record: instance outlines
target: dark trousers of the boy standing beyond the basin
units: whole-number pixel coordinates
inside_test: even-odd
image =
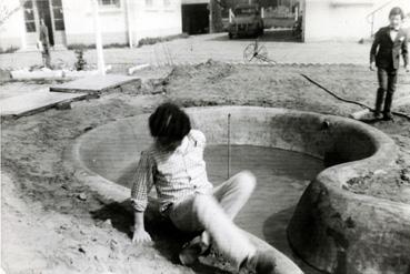
[[[383,114],[390,114],[391,104],[393,101],[393,93],[396,91],[397,84],[397,70],[378,68],[378,80],[379,80],[379,89],[376,98],[376,113],[381,112],[381,108],[384,101]]]

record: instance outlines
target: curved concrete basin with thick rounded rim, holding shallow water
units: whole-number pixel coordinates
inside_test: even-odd
[[[232,145],[299,152],[328,166],[301,195],[287,230],[293,251],[308,264],[349,274],[404,273],[409,267],[410,205],[346,187],[350,180],[371,180],[393,166],[397,148],[386,134],[350,119],[284,109],[214,106],[187,112],[208,145],[228,142],[231,114]],[[148,114],[127,118],[80,136],[69,153],[77,177],[109,199],[127,200],[129,189],[114,182],[129,173],[151,142],[147,121]],[[274,253],[278,273],[301,273],[273,246],[248,235]]]

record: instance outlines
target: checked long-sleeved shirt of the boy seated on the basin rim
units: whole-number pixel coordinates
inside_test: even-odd
[[[141,152],[131,190],[131,202],[136,211],[143,212],[148,193],[156,186],[160,212],[174,202],[194,193],[210,193],[203,149],[202,132],[191,130],[174,151],[161,151],[154,144]]]

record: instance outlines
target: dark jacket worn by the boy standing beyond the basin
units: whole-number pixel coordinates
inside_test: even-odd
[[[400,51],[403,55],[404,65],[409,63],[407,34],[400,29],[394,41],[390,38],[390,28],[381,28],[374,35],[370,50],[370,62],[376,61],[378,68],[397,70],[400,63]]]

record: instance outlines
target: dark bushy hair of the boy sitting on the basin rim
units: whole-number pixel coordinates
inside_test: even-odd
[[[184,111],[173,103],[163,103],[149,118],[151,135],[167,145],[181,141],[191,130],[191,121]]]

